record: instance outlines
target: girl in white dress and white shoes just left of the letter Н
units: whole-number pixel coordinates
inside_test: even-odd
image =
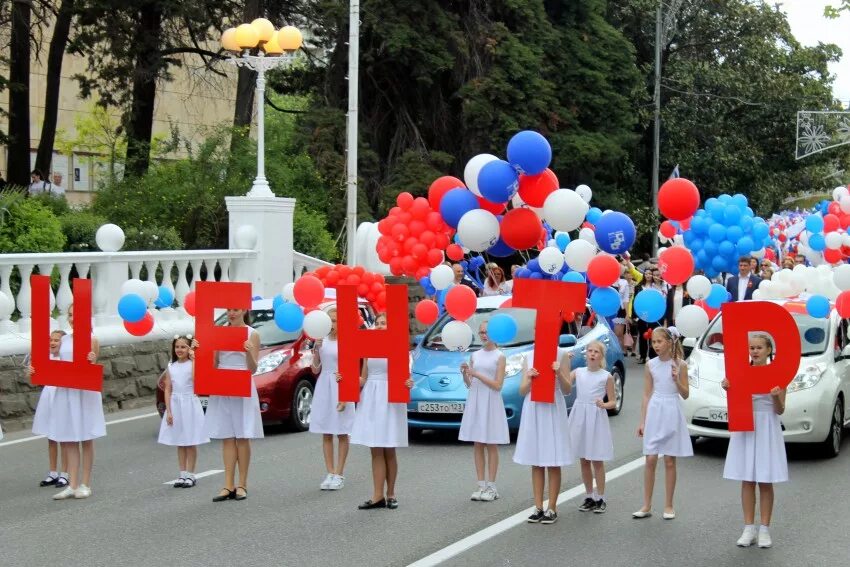
[[[336,309],[328,311],[331,332],[313,344],[312,369],[319,374],[310,409],[310,432],[322,434],[322,452],[327,476],[319,488],[339,490],[345,485],[343,471],[348,458],[349,435],[354,427],[354,404],[339,401],[339,347],[336,334]],[[321,371],[321,372],[320,372]],[[334,435],[339,439],[339,454],[334,463]]]

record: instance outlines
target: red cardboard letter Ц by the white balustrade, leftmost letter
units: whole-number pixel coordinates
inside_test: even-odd
[[[50,360],[50,276],[30,276],[33,385],[103,390],[103,366],[91,352],[91,280],[74,279],[74,360]]]

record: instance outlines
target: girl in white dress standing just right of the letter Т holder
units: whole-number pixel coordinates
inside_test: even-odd
[[[572,361],[572,353],[570,353]],[[582,512],[603,514],[605,502],[605,461],[614,458],[614,441],[608,424],[608,410],[617,407],[614,377],[605,368],[605,345],[593,341],[585,351],[587,366],[570,373],[576,399],[570,412],[570,441],[581,463],[585,499]],[[608,396],[608,401],[604,401]],[[593,478],[596,477],[596,490]]]

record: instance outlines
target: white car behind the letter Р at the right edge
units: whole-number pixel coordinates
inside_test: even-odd
[[[850,340],[848,320],[832,310],[828,319],[806,313],[805,303],[777,300],[792,315],[800,331],[802,358],[794,380],[788,385],[785,413],[780,416],[786,443],[816,443],[824,455],[834,457],[841,448],[848,422],[850,392]],[[718,315],[699,339],[685,339],[692,346],[688,357],[690,396],[684,401],[688,432],[697,437],[729,438],[725,376],[723,318]]]

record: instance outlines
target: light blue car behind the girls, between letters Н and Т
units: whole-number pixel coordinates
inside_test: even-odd
[[[473,329],[474,340],[467,352],[452,352],[443,346],[440,332],[451,321],[443,315],[424,335],[417,337],[418,344],[413,351],[413,389],[410,403],[407,405],[408,426],[413,431],[423,429],[460,429],[460,420],[466,405],[467,388],[460,374],[460,365],[469,360],[471,351],[481,348],[478,339],[478,327],[482,321],[496,313],[507,313],[517,322],[517,335],[509,344],[500,345],[507,357],[505,381],[502,386],[502,398],[508,426],[519,429],[523,398],[519,394],[522,359],[529,360],[534,354],[535,312],[531,309],[515,307],[500,308],[507,297],[482,297],[478,299],[476,313],[467,321]],[[588,306],[582,320],[564,323],[561,331],[560,346],[574,354],[573,368],[584,366],[584,352],[591,341],[599,340],[607,347],[606,361],[614,376],[614,389],[617,392],[617,406],[609,410],[617,415],[623,406],[623,384],[626,379],[623,352],[616,335],[608,327],[603,317],[597,317]],[[572,408],[575,393],[565,396],[567,408]]]

